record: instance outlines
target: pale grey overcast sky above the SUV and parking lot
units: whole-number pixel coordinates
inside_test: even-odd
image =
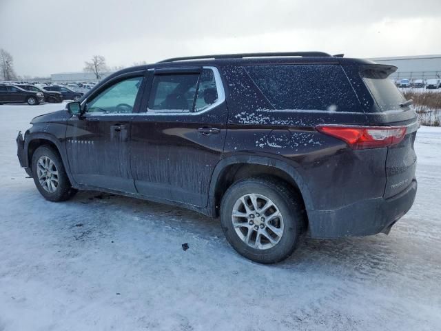
[[[0,0],[0,48],[20,75],[228,52],[441,54],[441,0]]]

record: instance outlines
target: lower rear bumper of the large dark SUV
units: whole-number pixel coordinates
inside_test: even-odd
[[[359,201],[338,210],[308,210],[311,238],[338,238],[389,233],[415,200],[417,181],[388,199]]]

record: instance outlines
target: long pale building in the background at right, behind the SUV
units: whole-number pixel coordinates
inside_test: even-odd
[[[391,74],[393,79],[441,79],[440,54],[413,57],[378,57],[369,60],[398,67],[398,70]]]

